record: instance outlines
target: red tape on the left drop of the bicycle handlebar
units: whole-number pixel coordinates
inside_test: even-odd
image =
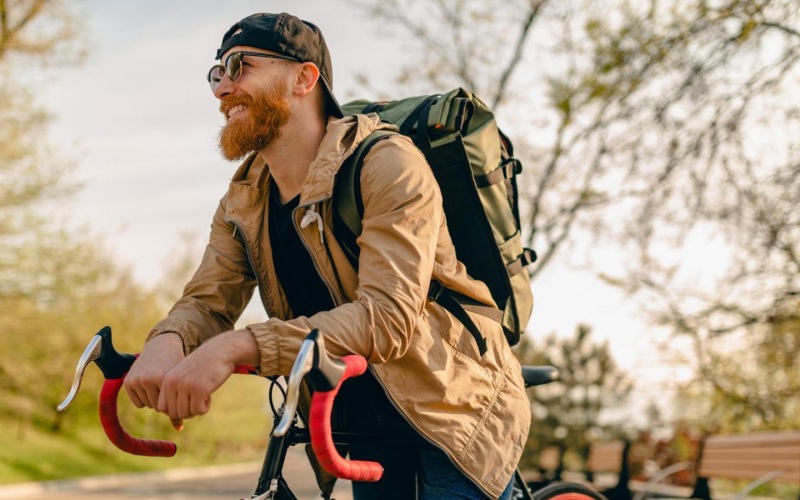
[[[106,436],[114,446],[131,455],[174,456],[178,449],[175,443],[155,439],[137,439],[122,428],[117,415],[117,396],[124,381],[124,375],[120,378],[106,379],[100,391],[100,423],[103,424]]]

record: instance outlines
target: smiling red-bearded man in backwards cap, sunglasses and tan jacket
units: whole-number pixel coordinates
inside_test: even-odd
[[[356,499],[509,498],[530,424],[521,370],[499,323],[473,315],[487,341],[481,356],[428,298],[435,279],[493,304],[456,259],[424,156],[392,134],[364,159],[356,270],[333,232],[336,173],[390,126],[375,114],[343,116],[325,40],[294,16],[241,20],[217,59],[208,80],[226,120],[220,150],[244,161],[183,297],[128,374],[131,400],[180,425],[208,411],[237,364],[288,375],[316,328],[331,354],[370,364],[340,393],[349,425],[408,436],[402,450],[351,446],[352,458],[385,469],[378,483],[354,483]],[[234,330],[256,287],[269,320]]]

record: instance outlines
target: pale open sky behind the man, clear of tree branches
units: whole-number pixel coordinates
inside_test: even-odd
[[[317,24],[330,47],[340,102],[357,97],[356,71],[368,70],[378,83],[390,84],[404,53],[380,25],[342,0],[82,5],[87,61],[60,70],[42,94],[54,115],[52,142],[75,159],[83,184],[65,209],[76,227],[103,237],[120,263],[155,287],[186,235],[195,236],[202,251],[237,166],[217,152],[223,120],[206,81],[222,34],[233,23],[267,10]],[[651,399],[663,403],[663,381],[675,367],[662,361],[654,342],[663,332],[637,318],[634,304],[565,262],[554,262],[533,286],[529,335],[571,335],[580,323],[592,325],[595,337],[607,340],[618,363],[637,379],[636,406]],[[249,311],[259,314],[257,305]]]

